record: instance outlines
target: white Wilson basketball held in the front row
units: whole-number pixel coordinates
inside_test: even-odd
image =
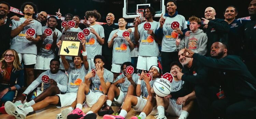
[[[171,83],[163,78],[157,79],[153,84],[156,95],[166,97],[171,93]]]

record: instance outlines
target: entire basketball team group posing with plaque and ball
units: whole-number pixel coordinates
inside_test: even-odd
[[[251,20],[236,19],[235,6],[225,19],[207,7],[205,18],[189,17],[189,30],[177,2],[165,6],[159,21],[148,6],[126,29],[112,13],[99,25],[96,10],[84,20],[62,21],[60,10],[35,17],[32,2],[21,5],[24,17],[9,18],[0,2],[0,113],[25,119],[53,104],[69,106],[56,119],[125,119],[131,109],[139,112],[131,119],[256,119],[256,0],[244,6]],[[80,46],[62,37],[72,33]]]

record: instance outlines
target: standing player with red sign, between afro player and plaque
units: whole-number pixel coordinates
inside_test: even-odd
[[[55,48],[57,47],[57,42],[61,37],[61,32],[56,29],[57,18],[55,16],[50,16],[47,22],[48,26],[42,27],[42,32],[45,29],[50,28],[52,34],[43,33],[41,40],[38,43],[38,55],[37,63],[35,64],[35,76],[38,77],[42,72],[49,69],[49,61],[55,57]]]

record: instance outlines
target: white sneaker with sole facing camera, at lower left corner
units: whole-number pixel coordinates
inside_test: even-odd
[[[16,119],[25,119],[27,114],[24,111],[24,108],[17,107],[15,104],[13,104],[11,101],[7,101],[4,104],[4,109],[7,114],[15,116]]]

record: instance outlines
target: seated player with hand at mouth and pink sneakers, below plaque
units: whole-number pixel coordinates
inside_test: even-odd
[[[101,55],[94,57],[96,69],[89,71],[85,76],[85,83],[81,83],[76,96],[76,108],[67,116],[68,119],[96,119],[96,113],[100,110],[106,102],[106,95],[108,94],[109,87],[113,82],[113,73],[105,68],[103,65],[105,59]],[[90,89],[90,84],[92,88]],[[86,114],[83,113],[83,102],[91,107],[90,111]]]

